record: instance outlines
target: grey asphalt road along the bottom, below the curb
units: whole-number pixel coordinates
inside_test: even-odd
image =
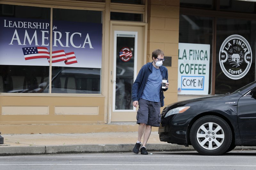
[[[178,169],[178,170],[254,170],[256,151],[232,151],[221,156],[202,156],[197,152],[152,152],[140,155],[122,153],[84,153],[56,155],[1,156],[1,170],[23,169]]]

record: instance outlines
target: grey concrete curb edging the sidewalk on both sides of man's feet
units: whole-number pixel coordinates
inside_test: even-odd
[[[132,152],[134,144],[74,144],[47,146],[0,146],[0,156],[60,153]],[[147,144],[147,151],[195,151],[192,146],[176,144]]]

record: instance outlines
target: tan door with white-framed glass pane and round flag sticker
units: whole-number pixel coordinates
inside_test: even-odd
[[[111,34],[110,122],[136,122],[132,106],[132,85],[138,68],[145,63],[145,26],[114,25]]]

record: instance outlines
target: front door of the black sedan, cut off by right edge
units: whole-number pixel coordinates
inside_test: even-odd
[[[241,139],[256,139],[256,98],[250,92],[238,100],[237,120]]]

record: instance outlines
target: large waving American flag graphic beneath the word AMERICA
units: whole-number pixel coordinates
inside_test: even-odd
[[[47,58],[50,63],[50,53],[46,47],[25,47],[22,48],[25,60],[35,58]],[[52,51],[52,63],[64,61],[65,64],[77,63],[74,52],[65,53],[64,50]]]

